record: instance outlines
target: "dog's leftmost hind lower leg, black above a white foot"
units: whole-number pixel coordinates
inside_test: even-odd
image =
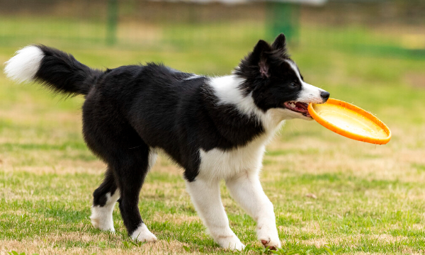
[[[113,227],[113,208],[120,198],[113,172],[108,169],[101,186],[93,193],[93,206],[91,207],[91,224],[101,230],[115,232]]]

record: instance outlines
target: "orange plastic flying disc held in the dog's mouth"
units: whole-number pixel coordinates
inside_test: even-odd
[[[326,103],[310,103],[308,112],[324,128],[353,140],[385,145],[391,139],[387,125],[351,103],[329,98]]]

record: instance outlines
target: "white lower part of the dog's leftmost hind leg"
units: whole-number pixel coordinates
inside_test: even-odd
[[[115,203],[120,198],[120,191],[117,189],[113,193],[113,196],[111,196],[111,193],[106,193],[106,198],[105,205],[96,205],[91,207],[91,224],[98,229],[115,232],[112,212]]]

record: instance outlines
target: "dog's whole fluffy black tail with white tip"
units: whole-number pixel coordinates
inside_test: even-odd
[[[72,55],[44,45],[30,45],[5,63],[6,76],[15,81],[40,81],[67,94],[89,94],[104,72],[81,64]]]

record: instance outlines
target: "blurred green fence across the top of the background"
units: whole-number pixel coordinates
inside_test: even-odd
[[[226,5],[166,1],[0,0],[0,44],[191,50],[285,33],[300,47],[425,57],[424,1]]]

